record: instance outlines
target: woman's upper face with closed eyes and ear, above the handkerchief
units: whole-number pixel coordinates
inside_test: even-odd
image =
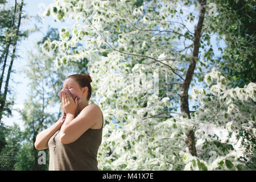
[[[67,78],[63,83],[63,89],[69,89],[70,92],[80,98],[85,96],[86,88],[87,87],[85,86],[84,88],[80,89],[79,84],[77,84],[77,82],[72,78]]]

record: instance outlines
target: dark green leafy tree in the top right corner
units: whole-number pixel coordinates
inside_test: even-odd
[[[230,13],[233,14],[232,18],[236,18],[237,22],[230,26],[228,30],[225,30],[232,32],[233,36],[228,37],[230,32],[226,35],[225,42],[227,43],[227,47],[222,50],[223,55],[221,56],[225,61],[221,61],[220,66],[234,78],[234,87],[239,86],[243,88],[243,86],[250,82],[256,82],[256,65],[254,61],[256,54],[256,35],[254,30],[256,20],[253,18],[256,16],[256,2],[229,0],[218,1],[217,3],[229,9]],[[234,36],[236,39],[233,38]],[[238,68],[229,66],[230,64],[235,65],[236,63],[240,65]]]

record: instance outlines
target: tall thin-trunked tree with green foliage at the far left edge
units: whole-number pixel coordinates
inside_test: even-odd
[[[5,4],[6,2],[1,2]],[[5,7],[5,6],[3,6]],[[20,31],[20,23],[22,19],[26,19],[26,16],[22,16],[23,13],[23,0],[18,3],[15,1],[14,5],[14,10],[1,10],[1,13],[3,12],[3,15],[12,13],[11,16],[8,14],[7,16],[2,16],[1,15],[1,20],[3,20],[3,23],[1,23],[1,45],[3,45],[3,49],[1,50],[1,59],[0,63],[2,65],[2,73],[1,73],[1,78],[0,78],[0,90],[2,89],[3,85],[3,77],[5,75],[5,67],[7,64],[7,59],[10,57],[10,65],[8,68],[7,76],[6,76],[6,81],[5,81],[5,86],[4,86],[4,91],[0,95],[0,122],[2,119],[2,115],[5,114],[4,111],[7,111],[7,115],[11,114],[10,106],[14,104],[13,101],[7,101],[7,93],[10,91],[9,90],[9,80],[11,77],[11,72],[13,72],[13,63],[14,59],[16,57],[16,46],[18,42],[20,41],[21,38],[28,36],[28,30],[26,31]],[[11,18],[11,21],[10,21]],[[11,51],[11,48],[12,51]]]

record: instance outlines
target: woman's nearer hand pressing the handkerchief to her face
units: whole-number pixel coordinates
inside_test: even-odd
[[[71,96],[69,96],[67,93],[63,92],[63,96],[62,96],[62,101],[63,101],[63,108],[65,110],[66,114],[76,114],[77,111],[77,98],[74,101],[73,98]]]

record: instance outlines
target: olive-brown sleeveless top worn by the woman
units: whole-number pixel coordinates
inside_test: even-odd
[[[102,140],[103,122],[102,114],[101,129],[88,129],[69,144],[60,142],[60,130],[57,130],[48,141],[49,171],[98,171],[97,153]]]

